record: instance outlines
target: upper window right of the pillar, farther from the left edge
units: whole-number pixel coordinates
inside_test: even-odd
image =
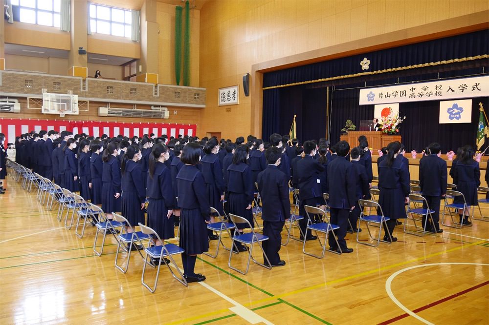
[[[90,30],[92,33],[131,37],[131,10],[90,3]]]

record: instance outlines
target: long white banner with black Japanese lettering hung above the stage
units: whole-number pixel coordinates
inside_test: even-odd
[[[443,101],[489,96],[489,76],[360,89],[360,105]]]

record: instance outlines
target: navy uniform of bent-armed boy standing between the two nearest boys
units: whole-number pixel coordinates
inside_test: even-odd
[[[281,163],[282,164],[282,163]],[[280,166],[280,165],[279,165]],[[296,173],[299,188],[299,215],[304,219],[299,220],[302,233],[306,233],[308,218],[304,206],[316,206],[324,201],[322,200],[321,191],[321,173],[324,167],[310,155],[306,155],[302,160],[297,162]],[[287,174],[286,174],[287,177]]]

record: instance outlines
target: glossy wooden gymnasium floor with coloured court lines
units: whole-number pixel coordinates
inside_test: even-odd
[[[244,276],[228,268],[227,252],[202,255],[196,271],[205,282],[186,288],[162,268],[152,294],[139,256],[122,274],[112,238],[94,256],[94,228],[79,239],[34,191],[9,181],[0,196],[2,324],[489,324],[486,222],[422,238],[397,228],[399,242],[378,248],[349,234],[354,253],[322,260],[291,241],[281,250],[285,267],[252,264]]]

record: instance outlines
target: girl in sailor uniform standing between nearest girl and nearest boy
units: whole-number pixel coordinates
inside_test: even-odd
[[[253,183],[251,168],[246,164],[247,158],[248,147],[241,144],[234,152],[233,163],[226,170],[229,213],[243,217],[254,227],[251,203],[253,202],[255,184]],[[238,231],[242,233],[247,224],[238,223],[237,226]],[[243,244],[236,243],[236,245],[239,251],[246,250]],[[233,246],[233,250],[236,250],[236,247]]]

